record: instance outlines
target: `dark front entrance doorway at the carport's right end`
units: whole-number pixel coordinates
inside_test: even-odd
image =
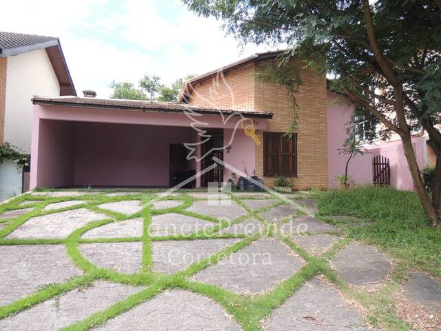
[[[223,147],[223,130],[222,129],[211,129],[207,131],[207,134],[211,135],[211,139],[203,144],[202,152],[206,157],[202,160],[202,168],[206,169],[213,163],[213,157],[217,157],[218,159],[223,161],[223,150],[212,150],[213,148],[221,148]],[[210,170],[205,173],[202,177],[202,186],[207,187],[208,183],[222,183],[223,182],[223,167],[221,165],[217,165],[216,168]]]

